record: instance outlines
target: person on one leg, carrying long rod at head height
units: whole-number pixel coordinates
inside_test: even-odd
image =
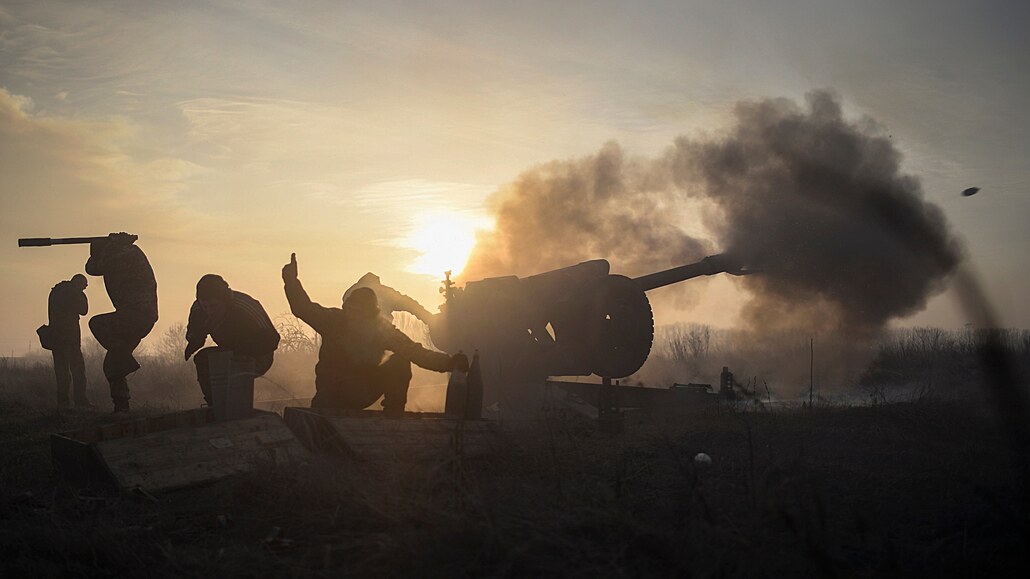
[[[90,330],[106,350],[104,376],[115,412],[129,411],[129,374],[139,370],[132,352],[158,321],[158,281],[135,237],[112,233],[90,243],[85,273],[104,277],[114,311],[95,315]]]

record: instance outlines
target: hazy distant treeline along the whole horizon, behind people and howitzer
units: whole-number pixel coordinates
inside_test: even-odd
[[[293,315],[281,314],[274,321],[282,341],[272,369],[254,383],[255,399],[311,397],[319,338]],[[427,340],[419,322],[397,321],[413,338]],[[184,325],[179,322],[147,340],[138,355],[142,368],[130,377],[135,400],[172,408],[200,406],[203,398],[194,365],[182,357],[184,335]],[[810,386],[817,397],[858,397],[867,402],[962,398],[983,391],[988,373],[982,353],[992,340],[1011,362],[1017,379],[1030,383],[1030,330],[908,328],[856,340],[829,332],[756,334],[697,323],[658,327],[648,362],[622,382],[654,387],[675,382],[718,386],[725,366],[744,389],[759,399],[806,399]],[[0,399],[53,403],[56,386],[47,353],[38,350],[0,359]],[[83,332],[82,353],[91,396],[103,400],[103,350],[88,332]],[[416,372],[412,402],[419,404],[417,397],[424,396],[426,408],[437,404],[437,382],[439,376]]]

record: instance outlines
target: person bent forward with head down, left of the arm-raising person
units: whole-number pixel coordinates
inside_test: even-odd
[[[211,336],[215,346],[204,347]],[[186,325],[185,359],[194,352],[197,381],[204,400],[211,405],[211,369],[208,357],[215,352],[231,351],[233,357],[251,357],[254,375],[262,376],[272,367],[272,357],[279,347],[279,333],[269,319],[261,302],[229,287],[220,275],[209,273],[197,282],[197,301],[190,308]],[[200,351],[197,351],[200,350]]]

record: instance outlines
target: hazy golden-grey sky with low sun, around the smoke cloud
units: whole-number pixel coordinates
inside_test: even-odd
[[[290,251],[317,301],[375,271],[435,310],[486,199],[527,168],[609,140],[655,155],[741,99],[814,89],[887,128],[1002,321],[1030,327],[1026,6],[0,0],[0,352],[28,348],[88,257],[19,237],[138,234],[156,335],[208,272],[287,311]],[[732,322],[720,283],[694,319]],[[948,294],[901,320],[963,321]]]

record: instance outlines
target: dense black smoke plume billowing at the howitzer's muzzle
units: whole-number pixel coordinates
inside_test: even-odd
[[[718,207],[719,244],[764,270],[744,280],[752,326],[876,330],[922,309],[961,249],[889,137],[830,93],[806,100],[742,103],[728,136],[679,139],[667,160]]]

